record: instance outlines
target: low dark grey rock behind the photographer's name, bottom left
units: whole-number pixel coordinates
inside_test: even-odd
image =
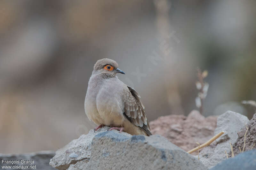
[[[36,169],[41,170],[51,170],[54,169],[52,166],[49,165],[50,159],[55,155],[55,152],[53,151],[41,151],[41,152],[33,152],[33,153],[24,153],[24,154],[0,154],[0,160],[1,160],[1,166],[34,166]],[[8,164],[8,163],[2,163],[2,160],[18,160],[19,163],[14,164]],[[34,163],[31,164],[24,164],[21,163],[21,159],[23,160],[33,160]],[[7,169],[7,168],[6,168]],[[11,168],[10,168],[11,169]],[[14,168],[13,168],[14,169]]]

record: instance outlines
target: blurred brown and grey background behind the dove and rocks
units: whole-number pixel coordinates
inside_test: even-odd
[[[256,1],[0,1],[0,152],[57,150],[95,127],[84,113],[94,63],[116,60],[150,121],[197,109],[247,115],[256,100]]]

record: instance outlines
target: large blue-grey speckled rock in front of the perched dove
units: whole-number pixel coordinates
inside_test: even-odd
[[[84,163],[83,163],[84,164]],[[207,168],[192,155],[159,135],[127,137],[112,131],[92,140],[91,159],[83,170],[95,169],[197,169]],[[76,166],[78,167],[78,166]],[[71,167],[69,170],[74,169]]]

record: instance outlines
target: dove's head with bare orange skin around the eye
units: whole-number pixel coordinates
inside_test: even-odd
[[[125,74],[124,71],[118,68],[116,61],[103,58],[98,60],[93,67],[92,74],[102,74],[103,78],[115,77],[117,73]]]

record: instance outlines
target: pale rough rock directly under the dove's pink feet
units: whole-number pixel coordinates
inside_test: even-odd
[[[107,131],[109,127],[100,128],[94,133],[90,130],[87,135],[82,135],[78,139],[72,140],[69,144],[56,151],[56,155],[51,159],[50,165],[57,169],[68,169],[71,164],[76,164],[79,161],[89,162],[91,156],[92,138],[100,132]],[[112,130],[114,133],[119,133],[117,130]],[[132,135],[122,132],[124,136],[131,137]]]

